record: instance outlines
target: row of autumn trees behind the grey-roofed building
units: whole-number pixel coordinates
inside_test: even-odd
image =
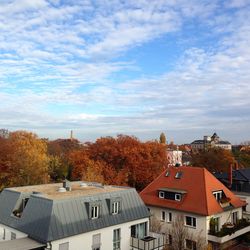
[[[0,130],[0,189],[69,180],[128,185],[141,190],[167,165],[166,145],[118,135],[81,144]]]

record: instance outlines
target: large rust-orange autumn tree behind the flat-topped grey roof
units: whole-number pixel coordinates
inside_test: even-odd
[[[167,162],[165,145],[140,142],[137,138],[118,135],[87,143],[71,154],[72,177],[86,175],[86,169],[100,169],[106,184],[129,185],[141,190],[164,169]],[[102,166],[102,167],[100,167]]]

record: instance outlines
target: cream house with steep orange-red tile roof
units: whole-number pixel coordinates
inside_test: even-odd
[[[205,168],[169,167],[140,196],[152,217],[161,222],[161,232],[169,235],[169,243],[178,216],[183,218],[188,235],[199,235],[212,249],[228,247],[232,240],[235,242],[250,230],[249,223],[243,219],[246,202]],[[196,249],[193,238],[185,242],[187,249]]]

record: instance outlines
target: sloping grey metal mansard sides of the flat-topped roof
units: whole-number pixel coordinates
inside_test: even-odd
[[[17,191],[2,191],[0,223],[43,243],[149,217],[145,204],[133,188],[61,200],[31,195],[21,218],[17,218],[12,212],[18,200],[24,197],[24,193]],[[116,198],[121,200],[121,212],[112,215],[109,201]],[[96,201],[101,204],[100,218],[89,219],[88,204]]]

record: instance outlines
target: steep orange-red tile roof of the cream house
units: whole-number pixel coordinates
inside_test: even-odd
[[[165,176],[166,172],[170,176]],[[180,179],[175,178],[177,172],[182,172]],[[158,190],[171,188],[186,191],[181,201],[161,199]],[[169,167],[140,193],[146,205],[172,208],[201,215],[213,215],[223,212],[223,208],[213,195],[213,191],[223,190],[234,208],[245,206],[246,203],[234,195],[206,168]]]

